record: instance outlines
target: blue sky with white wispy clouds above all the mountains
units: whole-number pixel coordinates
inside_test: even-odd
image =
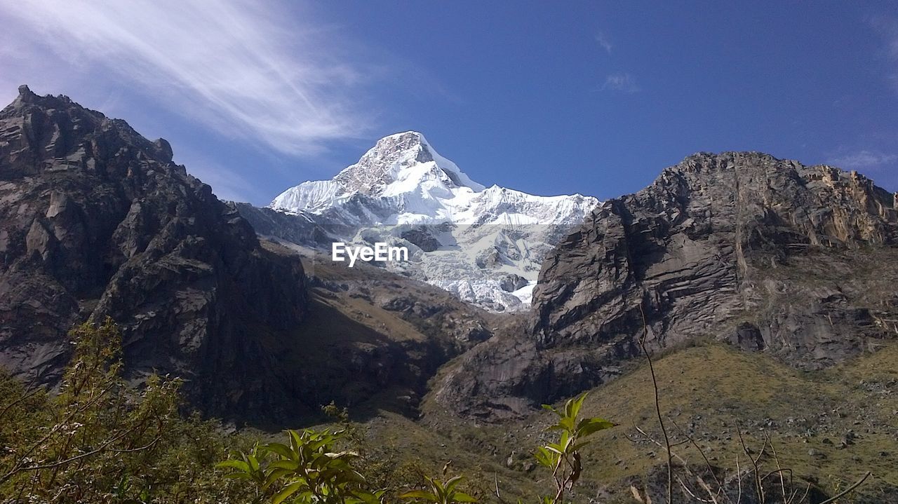
[[[67,94],[255,204],[409,129],[539,195],[619,196],[726,150],[898,190],[898,3],[264,5],[0,0],[0,100]]]

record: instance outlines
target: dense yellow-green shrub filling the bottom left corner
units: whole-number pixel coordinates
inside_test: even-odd
[[[242,501],[213,468],[228,441],[217,423],[180,416],[180,380],[129,387],[110,319],[69,337],[58,395],[0,376],[0,501]]]

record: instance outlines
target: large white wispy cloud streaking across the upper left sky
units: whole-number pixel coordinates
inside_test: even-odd
[[[371,120],[357,91],[366,69],[341,56],[333,30],[273,5],[3,2],[0,44],[29,41],[19,48],[34,54],[15,55],[20,65],[49,49],[63,62],[57,81],[66,73],[83,81],[114,76],[203,126],[279,152],[311,155],[330,141],[364,135]]]

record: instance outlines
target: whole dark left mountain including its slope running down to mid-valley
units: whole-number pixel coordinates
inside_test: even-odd
[[[72,326],[112,317],[132,384],[182,378],[201,413],[279,429],[331,401],[416,416],[436,369],[492,335],[448,292],[260,238],[168,142],[20,93],[0,111],[3,372],[54,387]]]

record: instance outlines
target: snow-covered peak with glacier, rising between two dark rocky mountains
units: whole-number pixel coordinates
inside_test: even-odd
[[[334,240],[407,247],[408,262],[384,267],[506,311],[529,308],[543,257],[598,203],[484,187],[409,131],[382,138],[330,180],[287,189],[269,208]]]

